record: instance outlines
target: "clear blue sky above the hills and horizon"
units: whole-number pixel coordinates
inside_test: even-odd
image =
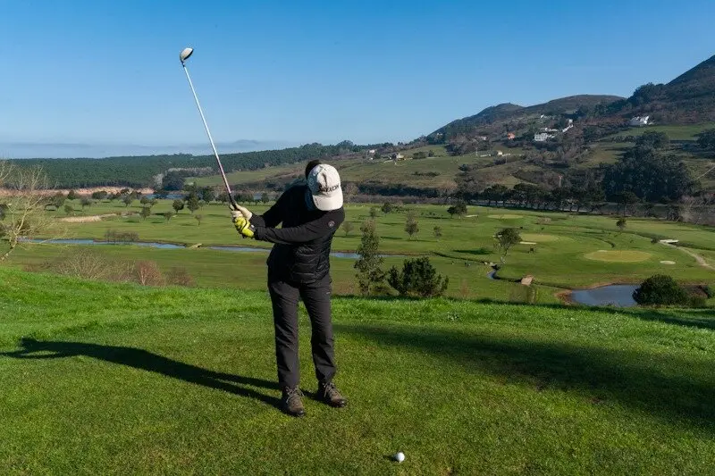
[[[0,0],[0,141],[400,141],[488,105],[628,96],[715,54],[715,2]]]

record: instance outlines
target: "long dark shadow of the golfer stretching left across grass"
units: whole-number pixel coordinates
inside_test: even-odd
[[[254,398],[275,407],[280,404],[278,398],[264,395],[251,388],[240,387],[251,386],[278,390],[278,384],[275,382],[209,371],[139,348],[102,346],[85,342],[41,341],[34,338],[22,338],[21,347],[21,350],[0,353],[0,356],[16,359],[57,359],[87,355],[105,362],[119,363],[147,372],[160,373],[172,379],[184,380],[207,388],[216,388],[241,397]]]

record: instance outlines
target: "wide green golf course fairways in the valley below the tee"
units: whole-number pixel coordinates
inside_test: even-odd
[[[152,260],[167,271],[186,268],[199,286],[265,289],[265,253],[214,251],[206,246],[258,246],[268,243],[240,239],[228,217],[225,205],[205,205],[194,215],[181,211],[170,221],[161,213],[171,209],[170,200],[156,205],[153,215],[142,220],[138,215],[88,223],[63,223],[63,238],[102,239],[107,230],[135,232],[142,241],[202,244],[199,249],[159,250],[139,246],[95,246],[97,253],[122,260]],[[355,251],[359,244],[360,223],[369,218],[371,205],[348,205],[348,221],[354,230],[345,236],[339,230],[333,250]],[[80,210],[80,205],[76,205]],[[261,213],[266,205],[251,206]],[[652,238],[674,238],[715,265],[715,231],[669,221],[628,218],[625,230],[606,216],[575,213],[510,211],[501,208],[470,206],[465,218],[450,218],[447,206],[410,205],[416,213],[419,232],[408,238],[404,230],[406,213],[377,213],[377,230],[382,253],[390,255],[430,255],[437,269],[449,276],[448,295],[491,298],[500,301],[519,299],[520,287],[507,280],[534,275],[540,286],[538,301],[556,302],[558,288],[588,287],[598,283],[640,282],[656,273],[668,273],[690,283],[713,283],[715,271],[697,263],[691,255],[674,247],[653,244]],[[120,203],[101,203],[86,210],[87,215],[139,211],[139,202],[130,207]],[[63,212],[56,213],[58,218]],[[442,237],[435,238],[434,227]],[[505,227],[519,229],[525,244],[509,250],[506,263],[498,272],[503,280],[487,278],[491,268],[484,263],[500,263],[501,252],[494,247],[494,234]],[[15,266],[39,264],[66,254],[73,246],[24,246],[9,261]],[[533,250],[533,251],[532,251]],[[404,257],[385,258],[385,268],[400,266]],[[708,261],[709,260],[709,261]],[[669,262],[664,264],[661,262]],[[670,263],[674,264],[670,264]],[[333,258],[333,284],[338,294],[354,294],[354,260]]]

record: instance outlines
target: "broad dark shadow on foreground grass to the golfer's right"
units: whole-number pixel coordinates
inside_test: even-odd
[[[535,391],[564,390],[593,405],[627,405],[669,422],[685,420],[715,432],[715,373],[712,363],[704,360],[433,326],[409,329],[346,323],[336,324],[335,329],[383,346],[439,355],[466,367],[467,372],[497,376],[504,384],[517,383]]]

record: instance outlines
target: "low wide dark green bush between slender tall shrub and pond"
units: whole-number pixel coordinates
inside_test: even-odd
[[[392,266],[387,282],[400,296],[434,297],[442,296],[450,279],[437,274],[430,259],[423,256],[405,260],[402,271]]]

